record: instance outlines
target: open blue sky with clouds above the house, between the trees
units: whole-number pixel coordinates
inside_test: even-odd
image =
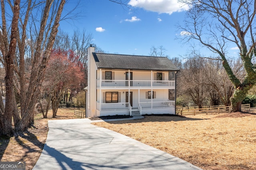
[[[69,23],[62,21],[60,29],[71,35],[74,30],[86,29],[92,33],[93,43],[108,53],[149,55],[152,45],[162,45],[171,58],[188,53],[189,44],[176,39],[180,36],[176,25],[182,24],[187,6],[176,0],[128,0],[127,3],[132,10],[109,0],[82,0],[81,8],[76,11],[80,10],[81,17]],[[71,7],[72,3],[68,4]]]

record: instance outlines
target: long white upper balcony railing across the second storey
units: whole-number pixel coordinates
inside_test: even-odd
[[[97,80],[97,87],[174,87],[175,81]]]

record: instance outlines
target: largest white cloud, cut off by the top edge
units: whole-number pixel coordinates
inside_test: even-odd
[[[148,11],[172,14],[173,12],[181,12],[189,9],[186,4],[178,3],[178,0],[130,0],[128,5],[144,8]]]

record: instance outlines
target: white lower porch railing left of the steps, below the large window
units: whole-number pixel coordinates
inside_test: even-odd
[[[97,103],[97,109],[104,110],[127,110],[130,109],[129,103]]]

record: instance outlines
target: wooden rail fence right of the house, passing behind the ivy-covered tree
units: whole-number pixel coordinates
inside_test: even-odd
[[[198,115],[198,114],[208,114],[208,113],[223,113],[230,112],[231,106],[208,106],[203,108],[194,107],[178,107],[176,113],[178,115]],[[250,104],[243,104],[242,111],[250,111]]]

